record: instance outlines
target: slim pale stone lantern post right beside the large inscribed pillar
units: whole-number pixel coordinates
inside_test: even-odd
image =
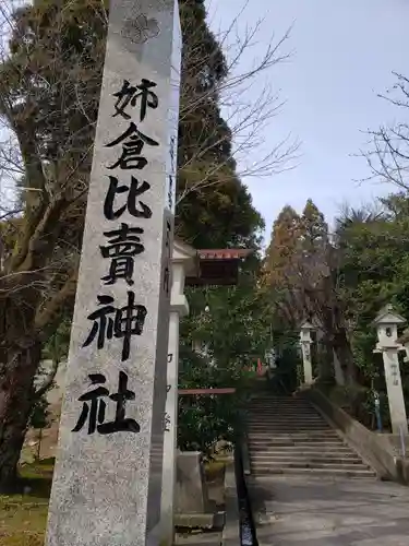
[[[189,313],[183,294],[184,278],[195,266],[196,251],[180,241],[173,244],[172,288],[170,296],[170,321],[168,342],[167,397],[165,413],[165,441],[163,465],[163,491],[160,503],[160,544],[173,544],[173,513],[178,436],[178,369],[179,322]]]

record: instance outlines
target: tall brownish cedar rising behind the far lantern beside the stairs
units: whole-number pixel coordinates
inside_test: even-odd
[[[336,249],[329,244],[323,214],[309,200],[301,217],[284,207],[273,227],[264,278],[277,313],[298,329],[304,318],[317,317],[328,345],[354,381],[357,367],[348,339],[345,301],[339,297]]]

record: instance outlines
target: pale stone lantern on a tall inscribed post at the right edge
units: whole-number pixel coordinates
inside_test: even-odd
[[[398,352],[404,349],[404,346],[398,343],[398,324],[405,322],[404,317],[394,312],[392,305],[384,307],[373,322],[377,332],[377,344],[374,353],[382,353],[384,359],[387,397],[394,434],[408,434],[398,359]]]

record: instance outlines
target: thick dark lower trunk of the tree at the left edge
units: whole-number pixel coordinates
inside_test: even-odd
[[[34,402],[34,378],[41,349],[38,342],[27,345],[9,351],[11,357],[0,363],[0,491],[16,486],[17,463]]]

